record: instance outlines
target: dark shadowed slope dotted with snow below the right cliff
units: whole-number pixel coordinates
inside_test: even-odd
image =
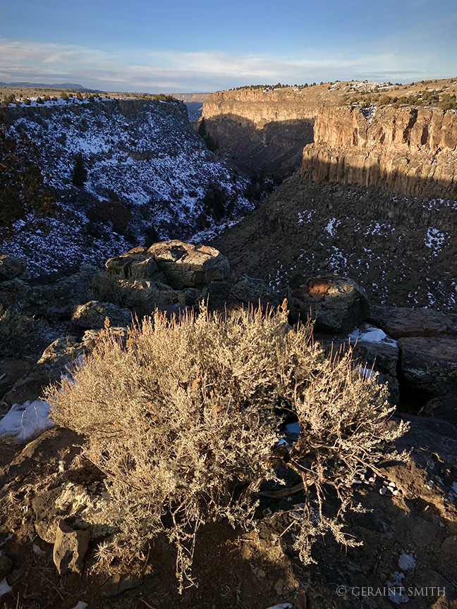
[[[214,240],[238,273],[278,290],[306,274],[347,274],[375,305],[456,310],[455,201],[372,187],[316,184],[298,174]]]

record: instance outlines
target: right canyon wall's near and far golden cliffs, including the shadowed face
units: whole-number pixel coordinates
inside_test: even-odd
[[[318,183],[457,197],[457,113],[413,106],[339,106],[322,87],[209,95],[203,129],[246,171]],[[200,123],[202,125],[202,123]]]

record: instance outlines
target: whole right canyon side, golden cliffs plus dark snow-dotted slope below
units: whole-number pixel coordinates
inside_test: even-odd
[[[303,273],[332,272],[355,278],[379,305],[454,310],[456,111],[367,104],[360,96],[343,103],[348,84],[337,87],[207,98],[202,116],[212,137],[230,133],[235,114],[247,125],[221,137],[221,151],[233,157],[243,140],[236,159],[258,171],[259,159],[273,159],[284,146],[281,159],[297,169],[215,247],[236,271],[276,288]],[[304,120],[312,133],[300,139],[297,131],[292,146],[284,124]],[[274,141],[267,133],[276,133]],[[264,168],[284,176],[284,165]]]

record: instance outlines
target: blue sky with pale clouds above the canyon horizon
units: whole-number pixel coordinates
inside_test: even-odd
[[[0,81],[211,92],[457,76],[456,0],[0,0]]]

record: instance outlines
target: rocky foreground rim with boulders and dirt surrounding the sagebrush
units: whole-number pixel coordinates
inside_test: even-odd
[[[399,403],[391,424],[410,424],[396,441],[399,450],[410,452],[406,461],[360,472],[355,484],[367,511],[354,514],[348,527],[363,545],[342,548],[326,538],[313,550],[316,562],[301,565],[291,549],[304,499],[297,491],[262,497],[256,530],[231,529],[224,522],[204,529],[195,550],[198,587],[182,596],[176,557],[162,540],[128,570],[114,565],[101,574],[98,544],[109,533],[100,516],[103,476],[90,462],[78,462],[84,438],[47,429],[43,389],[90,352],[106,317],[122,337],[132,313],[155,306],[173,314],[205,297],[223,311],[259,300],[278,305],[286,295],[291,323],[311,312],[315,336],[329,350],[332,343],[334,350],[345,349],[358,340],[354,365],[360,374],[378,371],[389,383]],[[22,316],[22,325],[11,318],[16,326],[11,322],[0,340],[1,409],[10,413],[0,422],[4,607],[457,606],[456,315],[370,306],[358,283],[333,275],[303,274],[275,292],[260,279],[236,276],[217,250],[179,241],[135,248],[109,259],[105,270],[83,266],[39,279],[20,260],[1,257],[0,303]],[[288,441],[297,437],[288,432]]]

